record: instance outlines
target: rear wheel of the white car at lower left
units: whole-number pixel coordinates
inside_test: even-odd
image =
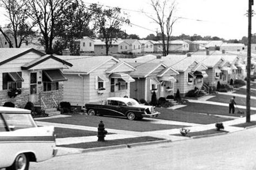
[[[6,168],[6,170],[28,170],[29,159],[24,153],[18,154],[14,160],[14,164]]]

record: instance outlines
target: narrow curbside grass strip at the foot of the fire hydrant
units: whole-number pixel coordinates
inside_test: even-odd
[[[164,139],[145,136],[145,137],[125,138],[125,139],[106,140],[106,141],[92,141],[92,142],[86,142],[86,143],[58,145],[58,146],[86,149],[86,148],[105,147],[105,146],[127,145],[127,144],[142,143],[142,142],[157,141],[157,140],[164,140]]]

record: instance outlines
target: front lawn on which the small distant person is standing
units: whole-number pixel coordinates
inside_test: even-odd
[[[204,104],[204,103],[186,103],[186,107],[179,108],[178,110],[188,111],[188,112],[196,112],[196,113],[204,113],[204,114],[212,114],[212,115],[225,115],[225,116],[245,116],[241,114],[237,114],[237,108],[235,108],[235,114],[228,114],[228,107],[213,105],[213,104]],[[244,109],[239,109],[241,111],[245,111]],[[255,111],[252,111],[252,114],[255,114]],[[221,121],[219,121],[221,122]]]

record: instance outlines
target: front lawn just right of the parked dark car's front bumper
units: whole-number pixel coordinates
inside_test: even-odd
[[[171,121],[211,124],[216,122],[225,122],[225,121],[232,120],[230,118],[217,117],[214,115],[202,115],[202,114],[198,114],[198,112],[194,110],[189,110],[189,109],[182,110],[182,108],[178,110],[156,108],[156,110],[161,113],[158,119],[166,119]]]

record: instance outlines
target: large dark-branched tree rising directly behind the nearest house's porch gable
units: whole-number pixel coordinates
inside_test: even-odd
[[[63,0],[27,0],[29,6],[28,16],[37,24],[43,36],[45,53],[52,54],[53,39],[58,17],[62,15]]]

